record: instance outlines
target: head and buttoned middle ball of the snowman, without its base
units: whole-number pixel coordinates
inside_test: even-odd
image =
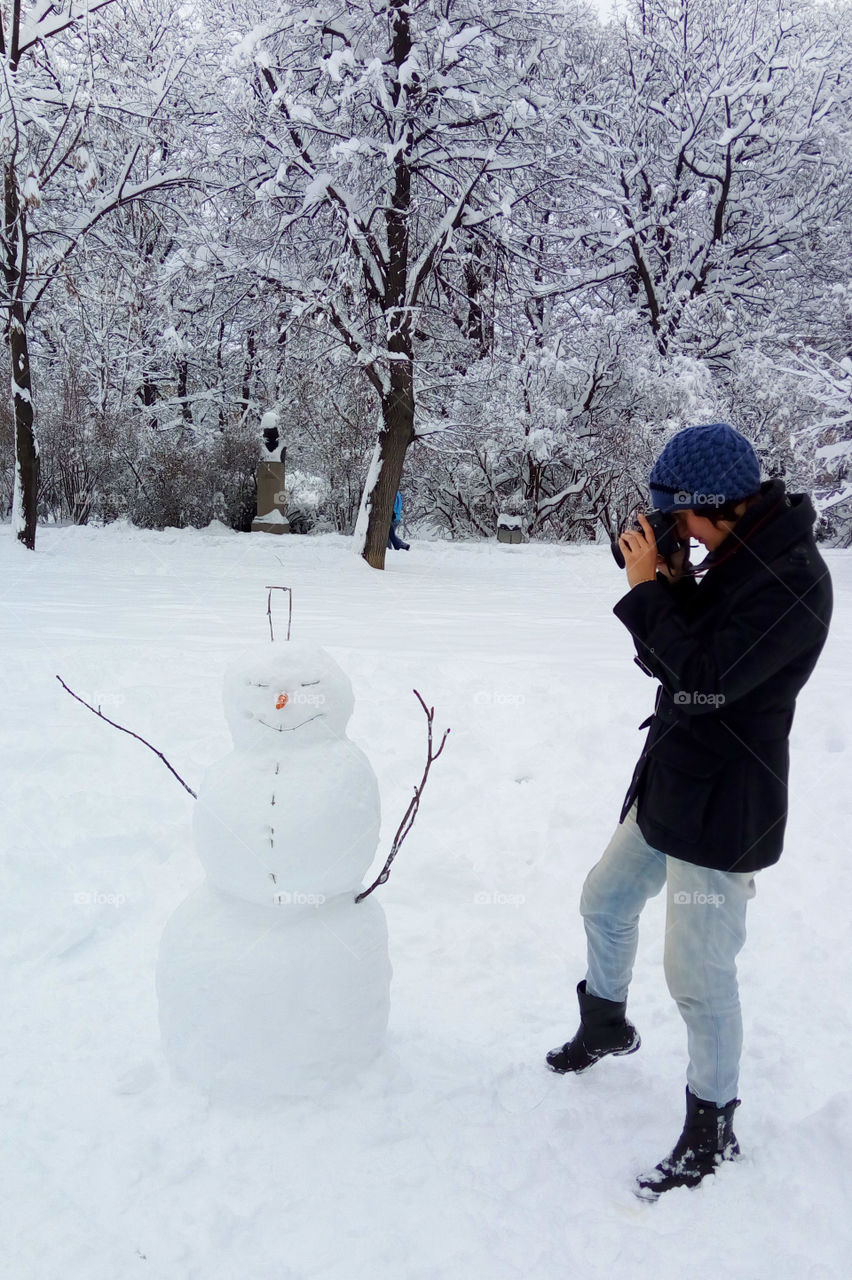
[[[234,750],[209,769],[193,814],[211,883],[264,905],[357,892],[381,806],[345,735],[345,673],[315,646],[270,645],[232,663],[224,701]]]

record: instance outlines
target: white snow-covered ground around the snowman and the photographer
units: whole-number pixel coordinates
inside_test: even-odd
[[[684,1030],[643,918],[640,1053],[546,1070],[573,1034],[577,901],[618,819],[655,685],[610,609],[604,547],[422,544],[375,573],[336,536],[0,538],[3,1193],[15,1280],[846,1277],[852,1253],[852,554],[800,698],[791,817],[741,957],[745,1160],[655,1206],[633,1175],[683,1115]],[[383,796],[375,870],[420,777],[416,686],[452,726],[380,891],[386,1051],[319,1101],[212,1106],[162,1057],[164,924],[202,879],[191,796],[230,749],[229,659],[294,637],[349,673]],[[279,627],[284,608],[275,602]],[[342,1046],[342,1052],[344,1047]]]

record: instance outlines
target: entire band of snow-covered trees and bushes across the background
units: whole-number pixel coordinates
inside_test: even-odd
[[[711,416],[842,540],[849,14],[0,0],[15,534],[244,529],[275,408],[375,566],[400,484],[450,536],[610,536]]]

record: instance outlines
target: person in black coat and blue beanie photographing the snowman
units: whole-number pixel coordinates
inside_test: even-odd
[[[755,874],[778,861],[787,823],[796,698],[825,644],[832,581],[807,494],[760,479],[728,424],[690,426],[650,476],[654,520],[679,545],[664,557],[646,515],[618,539],[629,590],[614,614],[635,662],[659,681],[618,826],[586,877],[580,1028],[546,1056],[580,1073],[629,1055],[638,919],[667,892],[664,968],[687,1030],[686,1120],[674,1148],[637,1179],[656,1199],[734,1160],[742,1016],[736,959]],[[688,543],[707,550],[690,563]]]

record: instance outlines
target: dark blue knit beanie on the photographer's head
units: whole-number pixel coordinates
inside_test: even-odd
[[[746,436],[727,422],[678,431],[651,471],[651,500],[660,511],[710,509],[759,489],[757,454]]]

